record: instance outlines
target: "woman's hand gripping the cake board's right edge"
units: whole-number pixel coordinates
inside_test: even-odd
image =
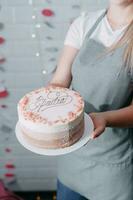
[[[90,113],[89,116],[91,117],[94,124],[94,131],[91,134],[91,138],[94,139],[104,132],[107,121],[102,113]]]

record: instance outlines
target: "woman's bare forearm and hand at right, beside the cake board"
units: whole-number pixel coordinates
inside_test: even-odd
[[[133,104],[119,110],[90,113],[94,123],[92,138],[101,135],[106,127],[133,127]]]

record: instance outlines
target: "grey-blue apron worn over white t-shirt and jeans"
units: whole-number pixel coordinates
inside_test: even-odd
[[[117,110],[131,104],[132,76],[123,66],[126,45],[101,56],[106,47],[87,33],[72,66],[72,89],[85,101],[85,112]],[[99,56],[100,55],[100,56]],[[133,129],[107,127],[85,146],[58,158],[58,179],[90,200],[133,200]]]

